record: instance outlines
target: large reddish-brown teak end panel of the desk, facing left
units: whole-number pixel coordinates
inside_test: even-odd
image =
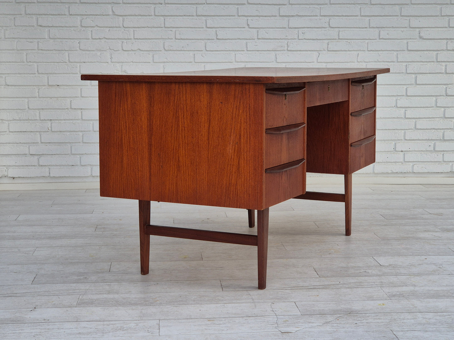
[[[99,82],[99,100],[102,196],[263,209],[263,84]]]

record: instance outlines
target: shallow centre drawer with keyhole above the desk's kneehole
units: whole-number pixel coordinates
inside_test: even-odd
[[[349,79],[306,83],[307,106],[348,100]]]

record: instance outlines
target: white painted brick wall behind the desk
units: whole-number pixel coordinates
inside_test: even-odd
[[[452,176],[453,0],[1,0],[0,183],[94,181],[81,73],[389,67],[376,175]]]

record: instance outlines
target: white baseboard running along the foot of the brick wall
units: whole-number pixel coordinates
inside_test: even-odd
[[[307,177],[308,185],[343,185],[343,176]],[[419,184],[419,185],[454,185],[454,177],[353,177],[353,184]],[[99,189],[99,182],[76,183],[4,183],[4,190],[68,190],[68,189]]]

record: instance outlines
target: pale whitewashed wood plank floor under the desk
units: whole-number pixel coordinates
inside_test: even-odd
[[[341,186],[308,188],[341,192]],[[98,190],[0,192],[1,339],[454,339],[454,186],[354,185],[343,204],[270,209],[251,246],[152,236]],[[152,202],[152,223],[255,233],[239,209]]]

